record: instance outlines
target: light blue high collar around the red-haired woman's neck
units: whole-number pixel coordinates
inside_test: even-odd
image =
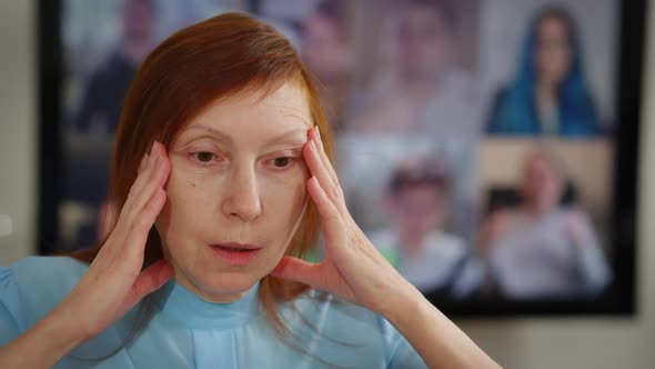
[[[155,298],[162,315],[191,329],[234,329],[259,313],[260,283],[234,302],[208,302],[175,281],[169,281]]]

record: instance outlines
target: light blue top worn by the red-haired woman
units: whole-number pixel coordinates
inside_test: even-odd
[[[64,257],[0,268],[0,347],[52,310],[87,269]],[[283,342],[260,310],[258,289],[236,302],[210,303],[171,281],[141,302],[154,315],[127,345],[138,308],[56,368],[425,368],[385,319],[315,290],[280,306],[292,332]]]

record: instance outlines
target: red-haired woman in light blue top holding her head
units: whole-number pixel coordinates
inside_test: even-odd
[[[77,256],[90,266],[0,270],[0,367],[495,368],[366,240],[330,152],[312,79],[271,27],[230,13],[171,36],[125,100],[117,216]]]

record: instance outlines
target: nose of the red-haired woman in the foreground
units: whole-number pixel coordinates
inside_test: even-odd
[[[262,203],[254,170],[238,169],[230,182],[223,213],[245,222],[255,220],[262,212]]]

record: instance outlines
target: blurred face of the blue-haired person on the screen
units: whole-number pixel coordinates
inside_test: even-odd
[[[558,18],[545,18],[536,30],[535,69],[541,82],[557,84],[571,68],[571,43],[566,24]]]

